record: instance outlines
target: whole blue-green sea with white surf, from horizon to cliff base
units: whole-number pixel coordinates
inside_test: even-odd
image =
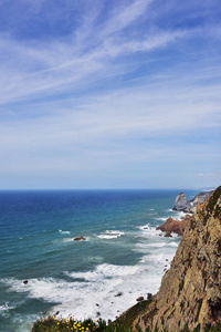
[[[57,311],[113,320],[157,292],[180,238],[156,227],[181,217],[171,210],[179,193],[0,191],[0,331],[30,331]]]

